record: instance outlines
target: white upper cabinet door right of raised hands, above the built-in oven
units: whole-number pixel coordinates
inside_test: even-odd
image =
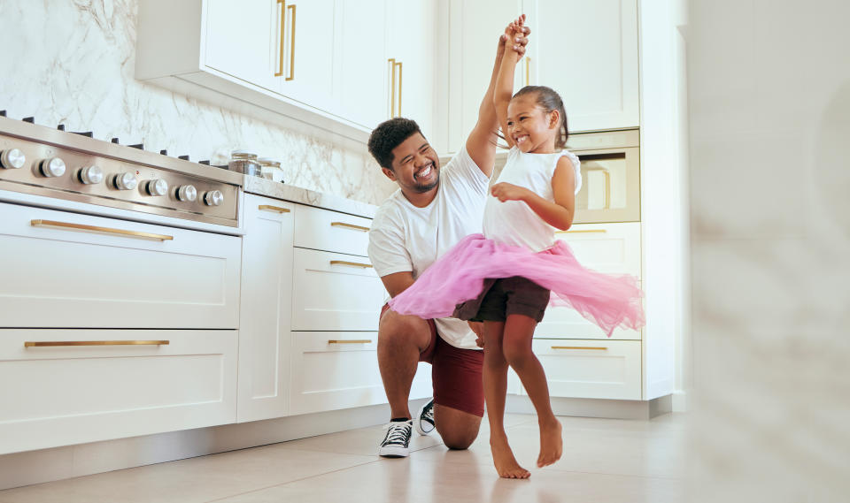
[[[530,83],[558,91],[570,131],[639,126],[637,0],[526,0]]]

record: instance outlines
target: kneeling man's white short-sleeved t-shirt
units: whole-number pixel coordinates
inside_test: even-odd
[[[378,276],[413,272],[413,279],[461,239],[482,232],[490,179],[460,150],[440,169],[437,196],[425,208],[413,206],[399,188],[375,212],[369,231],[369,260]],[[478,349],[467,322],[437,318],[437,333],[454,347]]]

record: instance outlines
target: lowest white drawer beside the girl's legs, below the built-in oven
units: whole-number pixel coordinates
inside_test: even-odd
[[[534,339],[553,397],[640,400],[638,340]]]

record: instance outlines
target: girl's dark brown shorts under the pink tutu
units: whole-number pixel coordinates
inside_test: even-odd
[[[452,316],[473,322],[503,322],[508,315],[525,315],[537,323],[549,305],[549,290],[520,276],[488,278],[480,295],[458,304]]]

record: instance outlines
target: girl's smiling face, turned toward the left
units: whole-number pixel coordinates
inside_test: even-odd
[[[507,131],[525,153],[551,154],[560,133],[560,113],[547,112],[533,94],[516,96],[507,104]]]

